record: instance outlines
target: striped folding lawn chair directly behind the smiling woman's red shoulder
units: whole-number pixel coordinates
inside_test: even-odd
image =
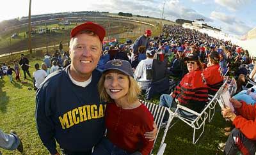
[[[164,139],[166,137],[168,128],[169,128],[170,123],[171,123],[171,110],[169,108],[162,107],[160,105],[156,105],[156,104],[153,104],[153,103],[149,103],[147,101],[141,101],[141,103],[143,103],[148,108],[148,110],[152,113],[152,115],[154,117],[154,121],[156,122],[156,125],[157,125],[158,131],[157,131],[156,139],[154,140],[154,146],[155,146],[155,143],[156,143],[156,140],[157,140],[158,133],[161,130],[161,124],[163,122],[164,114],[165,113],[169,114],[167,124],[164,128],[164,134],[163,134],[163,137],[162,137],[162,140],[161,140],[161,144],[160,144],[159,149],[158,149],[157,154],[156,154],[156,155],[163,155],[165,147],[166,147],[166,143],[164,143]],[[154,147],[153,147],[153,149],[154,149]],[[153,149],[152,149],[152,151],[153,151]],[[150,155],[153,155],[152,151],[150,152]]]

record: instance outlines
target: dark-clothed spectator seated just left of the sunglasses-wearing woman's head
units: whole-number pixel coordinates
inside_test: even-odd
[[[173,59],[171,63],[170,75],[172,77],[179,77],[181,79],[186,73],[188,73],[188,69],[186,68],[186,64],[184,62],[184,57],[184,49],[179,47],[177,54],[175,55],[175,59]]]

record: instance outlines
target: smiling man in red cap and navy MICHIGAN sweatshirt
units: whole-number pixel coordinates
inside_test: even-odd
[[[59,155],[57,141],[63,155],[90,155],[105,133],[106,104],[97,90],[102,73],[95,70],[105,34],[93,22],[74,27],[70,66],[48,75],[36,93],[36,126],[51,154]]]

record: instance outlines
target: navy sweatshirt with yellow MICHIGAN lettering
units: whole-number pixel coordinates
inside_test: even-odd
[[[36,127],[45,147],[56,154],[56,142],[70,152],[87,152],[104,135],[104,111],[97,83],[102,75],[94,70],[92,82],[79,87],[67,69],[50,74],[36,92]]]

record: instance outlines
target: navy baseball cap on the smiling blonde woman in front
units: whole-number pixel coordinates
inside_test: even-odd
[[[104,66],[103,72],[108,70],[118,70],[128,76],[133,77],[132,66],[128,61],[125,60],[115,59],[108,61],[108,63],[106,63]]]

